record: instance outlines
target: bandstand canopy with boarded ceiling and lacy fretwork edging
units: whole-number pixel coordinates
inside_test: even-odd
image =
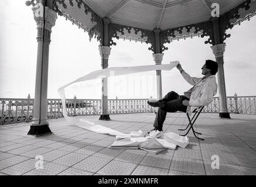
[[[103,42],[103,20],[109,18],[109,44],[113,38],[150,43],[154,51],[154,32],[160,29],[161,51],[164,43],[194,36],[208,36],[215,44],[211,12],[220,8],[221,40],[225,30],[256,14],[256,2],[244,0],[56,0],[53,10],[80,29]],[[218,7],[217,7],[218,8]]]

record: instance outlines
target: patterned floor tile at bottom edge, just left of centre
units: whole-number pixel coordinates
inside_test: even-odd
[[[112,160],[105,167],[100,169],[97,174],[100,175],[130,175],[136,168],[137,164],[120,162]]]

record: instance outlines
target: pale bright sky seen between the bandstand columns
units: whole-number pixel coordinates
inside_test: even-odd
[[[36,23],[31,6],[25,1],[2,0],[0,6],[0,98],[31,98],[35,94]],[[235,26],[225,40],[224,72],[227,96],[256,95],[256,16]],[[101,69],[99,42],[89,41],[87,33],[69,20],[58,16],[52,28],[49,51],[48,98],[58,99],[57,89],[89,72]],[[215,60],[207,38],[194,37],[166,44],[162,64],[180,61],[193,77],[202,77],[205,60]],[[114,40],[109,67],[154,65],[149,44]],[[162,71],[163,95],[169,91],[183,94],[191,88],[176,68]],[[130,74],[109,79],[109,99],[147,99],[156,93],[156,72]],[[66,89],[66,98],[100,99],[101,80],[73,84]],[[218,94],[217,94],[218,96]]]

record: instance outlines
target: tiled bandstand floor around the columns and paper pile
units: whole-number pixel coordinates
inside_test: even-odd
[[[151,130],[154,113],[77,116],[129,133]],[[115,137],[69,126],[64,118],[49,120],[53,134],[26,135],[29,123],[0,126],[0,175],[256,175],[256,116],[220,119],[203,113],[197,120],[201,141],[188,134],[186,148],[154,155],[143,150],[113,150]],[[187,125],[184,113],[168,113],[164,131],[180,132]],[[35,158],[36,157],[36,158]],[[40,160],[42,158],[43,160]],[[220,162],[219,169],[213,169]],[[215,165],[214,165],[215,164]],[[43,169],[36,169],[41,165]],[[217,167],[218,168],[218,167]]]

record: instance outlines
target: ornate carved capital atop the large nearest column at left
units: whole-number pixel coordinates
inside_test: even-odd
[[[43,26],[45,26],[46,30],[52,32],[52,27],[55,26],[56,19],[58,18],[57,13],[47,6],[43,7],[41,3],[38,3],[35,6],[33,6],[32,11],[38,29],[43,28]],[[45,14],[45,18],[43,18],[43,12]]]

